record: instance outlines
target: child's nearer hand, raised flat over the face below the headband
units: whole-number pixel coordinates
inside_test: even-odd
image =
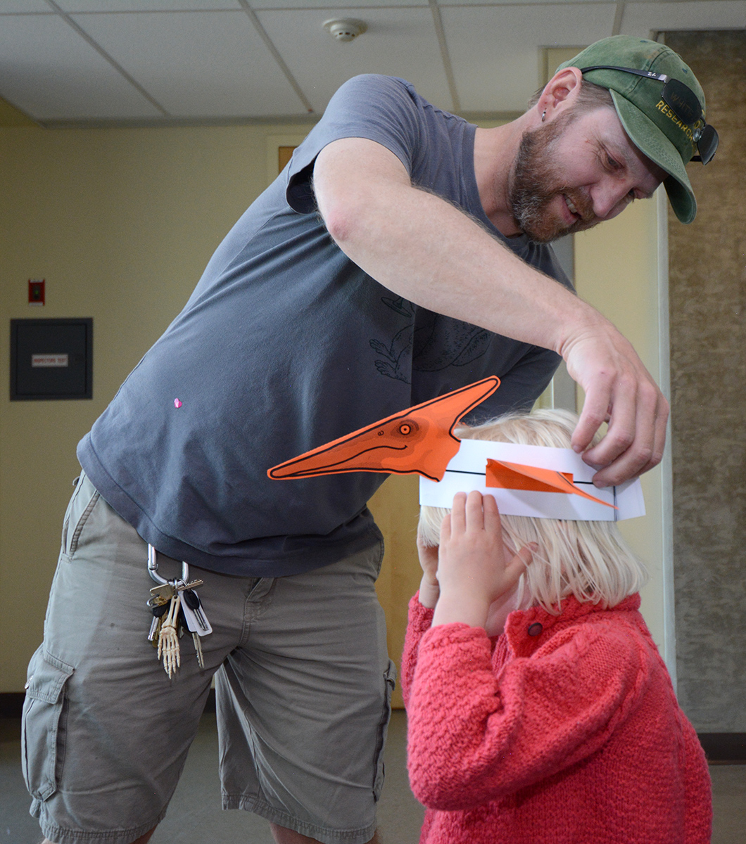
[[[457,493],[440,528],[440,598],[433,625],[463,621],[484,627],[491,604],[515,589],[531,562],[531,550],[520,549],[511,559],[492,495]]]

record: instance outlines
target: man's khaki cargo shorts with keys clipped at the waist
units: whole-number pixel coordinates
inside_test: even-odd
[[[24,776],[44,835],[129,844],[154,827],[215,676],[223,807],[329,844],[368,841],[394,685],[381,555],[277,578],[191,567],[213,632],[204,668],[182,637],[169,680],[147,640],[147,545],[81,475],[24,707]],[[162,576],[181,576],[180,562],[158,560]]]

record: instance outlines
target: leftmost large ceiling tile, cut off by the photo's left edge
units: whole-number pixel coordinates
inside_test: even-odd
[[[56,15],[3,17],[0,95],[41,121],[160,115]]]

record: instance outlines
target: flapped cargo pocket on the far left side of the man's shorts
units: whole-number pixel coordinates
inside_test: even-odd
[[[29,664],[21,730],[21,767],[32,797],[46,800],[57,791],[64,748],[60,732],[65,684],[74,668],[39,648]]]

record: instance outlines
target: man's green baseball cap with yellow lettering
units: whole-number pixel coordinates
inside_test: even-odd
[[[677,53],[665,44],[634,35],[613,35],[596,41],[557,69],[592,68],[616,65],[651,73],[665,73],[683,82],[700,100],[705,113],[705,94],[700,83]],[[674,214],[682,223],[691,223],[697,214],[697,201],[686,175],[686,165],[697,152],[692,129],[681,122],[661,98],[662,83],[621,70],[589,70],[589,82],[607,88],[624,131],[632,143],[668,174],[663,181]]]

